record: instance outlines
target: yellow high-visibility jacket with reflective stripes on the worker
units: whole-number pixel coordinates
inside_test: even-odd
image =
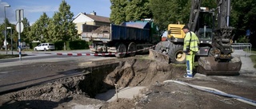
[[[199,48],[199,40],[197,35],[194,32],[188,32],[186,33],[186,36],[184,38],[184,45],[183,45],[183,51],[189,52],[198,52]]]

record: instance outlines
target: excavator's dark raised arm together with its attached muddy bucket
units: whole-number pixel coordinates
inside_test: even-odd
[[[201,56],[199,58],[198,72],[206,75],[238,75],[242,62],[238,57],[231,55],[234,52],[231,46],[233,42],[232,30],[234,28],[229,25],[230,0],[217,0],[217,3],[218,7],[215,11],[217,14],[217,26],[213,29],[212,48],[209,56]],[[192,4],[194,4],[192,5],[194,10],[191,10],[190,13],[190,28],[195,31],[199,14],[197,13],[198,6],[200,6],[201,1],[192,0]]]

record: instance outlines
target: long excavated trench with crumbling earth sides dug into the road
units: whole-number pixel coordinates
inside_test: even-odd
[[[95,98],[99,93],[127,87],[149,86],[164,80],[179,78],[184,66],[161,64],[154,60],[132,59],[88,68],[79,68],[80,76],[67,77],[8,94],[9,99],[64,101],[85,95]],[[7,98],[6,98],[7,99]],[[66,99],[66,100],[65,100]]]

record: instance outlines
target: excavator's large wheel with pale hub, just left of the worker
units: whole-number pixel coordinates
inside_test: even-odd
[[[171,44],[169,46],[168,55],[170,56],[170,62],[175,64],[185,64],[186,53],[183,53],[182,45]]]

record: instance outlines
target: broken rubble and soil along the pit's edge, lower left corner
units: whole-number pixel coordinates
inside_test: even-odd
[[[41,84],[22,91],[11,92],[1,95],[0,108],[44,108],[68,107],[65,103],[72,100],[89,98],[85,92],[78,87],[85,76],[73,76],[52,83]],[[89,100],[93,101],[93,100]],[[62,104],[59,106],[59,104]],[[97,102],[95,102],[97,103]],[[98,103],[101,103],[98,101]]]

